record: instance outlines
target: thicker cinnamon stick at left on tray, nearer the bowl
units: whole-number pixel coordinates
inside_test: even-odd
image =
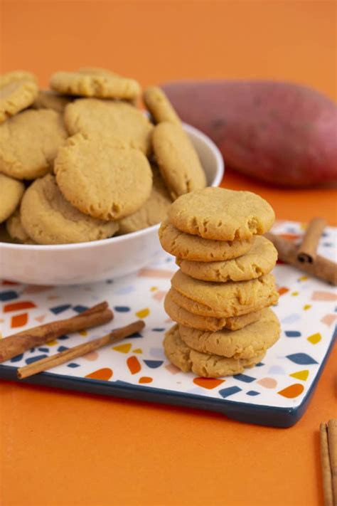
[[[109,310],[107,302],[101,302],[83,311],[80,315],[66,320],[55,320],[45,325],[12,334],[0,340],[0,363],[26,352],[27,349],[53,341],[63,334],[103,325],[112,320],[113,317],[113,312]]]

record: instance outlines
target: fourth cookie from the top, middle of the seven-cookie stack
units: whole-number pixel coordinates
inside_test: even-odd
[[[179,305],[201,316],[246,315],[276,304],[278,300],[272,274],[250,281],[208,283],[190,278],[178,270],[171,279],[171,285],[191,301]]]

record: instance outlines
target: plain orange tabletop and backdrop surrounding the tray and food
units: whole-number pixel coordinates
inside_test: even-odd
[[[109,67],[141,84],[279,78],[336,99],[335,1],[2,1],[1,71]],[[278,218],[337,224],[336,191],[274,189]],[[337,349],[293,428],[0,384],[1,506],[321,504],[318,428],[336,416]]]

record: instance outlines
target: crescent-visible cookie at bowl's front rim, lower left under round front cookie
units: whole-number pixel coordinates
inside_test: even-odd
[[[96,241],[117,232],[114,221],[100,221],[77,211],[65,200],[55,177],[47,174],[26,189],[21,201],[22,226],[39,244]]]

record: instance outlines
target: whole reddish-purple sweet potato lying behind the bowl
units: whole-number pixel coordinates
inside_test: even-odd
[[[337,107],[310,88],[257,81],[167,83],[181,119],[240,172],[286,186],[337,181]]]

